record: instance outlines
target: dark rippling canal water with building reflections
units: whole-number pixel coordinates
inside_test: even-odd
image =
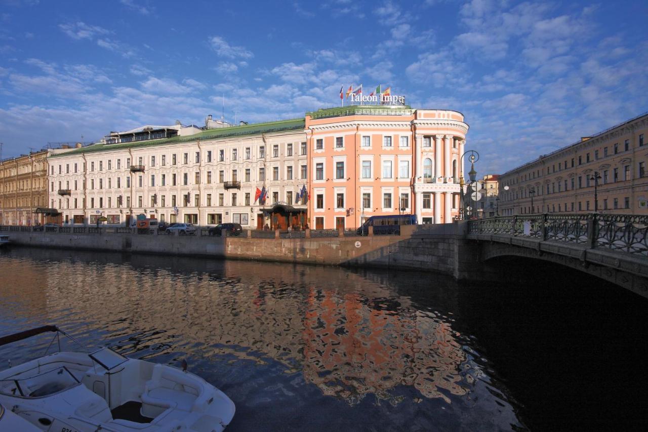
[[[648,301],[503,261],[507,282],[418,272],[0,252],[0,335],[56,324],[222,389],[228,431],[639,430]],[[50,338],[0,348],[1,366]]]

